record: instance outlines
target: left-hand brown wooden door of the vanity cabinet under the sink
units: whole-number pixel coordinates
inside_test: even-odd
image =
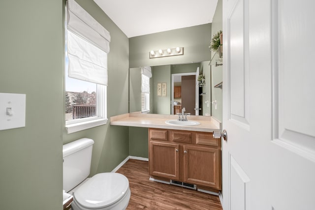
[[[179,179],[179,145],[150,142],[149,174],[167,179]]]

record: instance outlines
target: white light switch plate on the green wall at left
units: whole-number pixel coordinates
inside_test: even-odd
[[[25,127],[26,94],[0,92],[0,130]]]

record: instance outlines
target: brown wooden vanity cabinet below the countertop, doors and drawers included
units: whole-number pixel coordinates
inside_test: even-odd
[[[221,139],[210,132],[149,128],[149,174],[221,190]]]

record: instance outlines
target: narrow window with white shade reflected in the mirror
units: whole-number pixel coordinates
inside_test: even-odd
[[[141,67],[141,111],[150,111],[150,78],[152,77],[151,67]]]

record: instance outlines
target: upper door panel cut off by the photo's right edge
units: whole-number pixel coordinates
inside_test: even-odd
[[[313,6],[313,8],[312,8]],[[315,58],[314,2],[309,4],[296,1],[287,3],[280,0],[274,7],[274,31],[279,47],[274,51],[274,60],[279,60],[273,69],[277,78],[275,84],[274,139],[284,147],[315,161]],[[296,13],[296,7],[303,12]],[[278,33],[278,34],[277,34]],[[288,35],[287,35],[288,34]],[[278,39],[277,39],[278,35]],[[297,41],[298,39],[298,41]],[[304,55],[304,56],[303,56]],[[303,59],[302,59],[303,57]],[[313,110],[313,111],[312,111]]]

